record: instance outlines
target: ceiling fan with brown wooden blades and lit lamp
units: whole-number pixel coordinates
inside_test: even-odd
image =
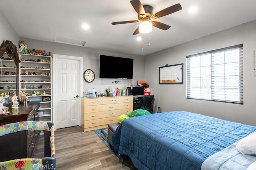
[[[147,23],[152,24],[152,26],[154,26],[154,27],[157,27],[157,28],[160,28],[163,30],[167,30],[170,28],[169,25],[166,25],[165,23],[161,23],[158,21],[151,21],[151,20],[172,14],[172,13],[177,12],[182,9],[180,4],[175,4],[173,6],[165,8],[164,10],[161,10],[161,11],[153,14],[152,6],[149,6],[149,5],[142,6],[140,0],[130,0],[130,3],[132,4],[134,10],[138,13],[138,20],[112,22],[112,25],[123,24],[123,23],[135,23],[138,21],[142,21],[142,23],[144,23],[144,22],[146,23],[146,21],[147,21]],[[140,26],[138,26],[136,28],[133,35],[136,35],[138,33],[140,33]]]

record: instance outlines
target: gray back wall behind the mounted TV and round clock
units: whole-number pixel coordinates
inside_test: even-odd
[[[21,38],[24,43],[28,46],[28,49],[41,49],[51,51],[52,54],[58,55],[68,55],[75,57],[83,58],[83,71],[86,69],[92,69],[96,74],[96,78],[93,82],[88,83],[83,80],[83,90],[92,92],[92,89],[95,88],[96,92],[104,93],[106,88],[112,87],[112,90],[116,87],[126,88],[128,84],[137,84],[140,80],[144,80],[144,56],[132,55],[125,53],[118,53],[113,51],[104,51],[86,47],[80,47],[75,45],[68,45],[62,43],[53,43],[48,41],[39,41],[35,39],[26,39]],[[133,68],[133,79],[107,79],[99,78],[99,63],[100,55],[109,55],[115,57],[125,57],[134,59],[134,68]],[[106,63],[109,66],[113,66],[112,63]],[[53,73],[54,74],[54,73]],[[113,81],[121,81],[118,84],[112,83]],[[58,83],[58,82],[55,82]]]

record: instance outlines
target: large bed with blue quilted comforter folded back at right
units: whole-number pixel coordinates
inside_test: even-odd
[[[172,111],[124,120],[112,142],[139,170],[242,170],[256,156],[238,152],[236,144],[255,131],[250,125]]]

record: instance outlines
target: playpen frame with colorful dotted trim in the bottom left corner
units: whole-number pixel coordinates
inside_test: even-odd
[[[52,122],[44,121],[9,123],[0,126],[0,137],[9,133],[25,130],[44,131],[44,158],[7,160],[0,162],[0,170],[55,170],[56,155],[54,147],[54,124]]]

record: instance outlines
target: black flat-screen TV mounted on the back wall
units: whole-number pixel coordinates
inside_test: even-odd
[[[132,79],[133,59],[100,55],[100,78]]]

